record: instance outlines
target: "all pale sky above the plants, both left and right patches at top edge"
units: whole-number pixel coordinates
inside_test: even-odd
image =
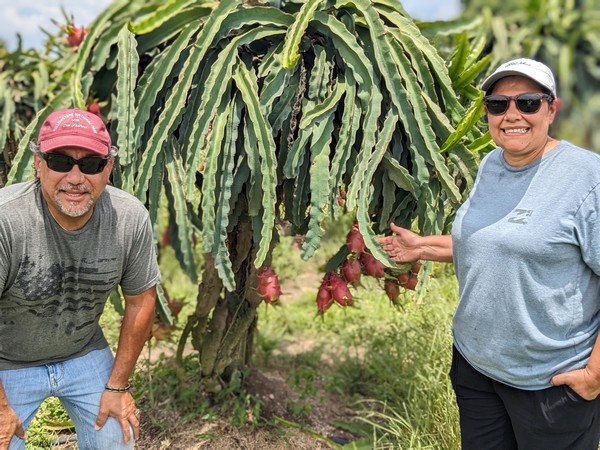
[[[9,50],[16,49],[17,33],[23,48],[40,48],[46,39],[40,28],[56,34],[51,19],[66,23],[73,16],[75,25],[85,26],[98,16],[111,0],[0,0],[0,39]],[[458,16],[460,0],[401,0],[404,9],[419,20],[449,20]]]

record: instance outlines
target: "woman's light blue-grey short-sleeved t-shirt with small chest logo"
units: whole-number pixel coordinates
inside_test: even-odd
[[[600,155],[568,142],[524,167],[487,155],[452,228],[454,342],[517,388],[585,366],[600,326]]]

